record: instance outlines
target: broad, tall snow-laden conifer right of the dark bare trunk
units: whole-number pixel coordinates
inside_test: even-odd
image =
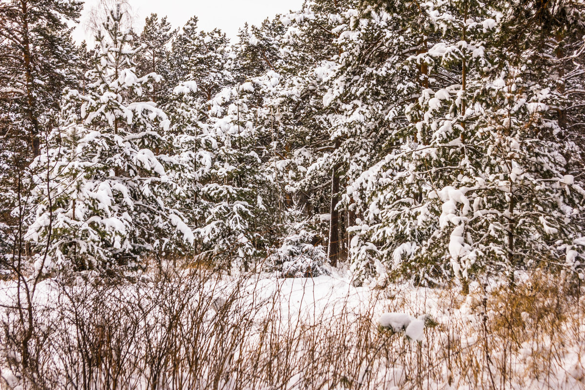
[[[489,46],[505,20],[472,3],[426,3],[427,22],[400,21],[428,26],[424,47],[397,64],[418,69],[422,82],[405,106],[400,143],[348,191],[364,213],[352,243],[363,278],[512,276],[575,238],[582,191],[563,174],[565,145],[538,137],[552,125],[542,115],[546,91],[518,87],[525,70]]]

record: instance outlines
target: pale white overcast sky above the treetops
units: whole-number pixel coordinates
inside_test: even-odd
[[[136,14],[135,29],[142,30],[144,18],[150,13],[159,17],[167,16],[173,27],[183,27],[191,16],[199,18],[198,26],[202,30],[219,27],[233,43],[237,39],[238,29],[248,22],[260,25],[267,17],[277,13],[286,13],[290,9],[301,8],[302,0],[129,0],[132,11]],[[84,22],[90,9],[97,0],[86,0],[81,15],[81,25],[75,29],[75,41],[91,40],[85,32]]]

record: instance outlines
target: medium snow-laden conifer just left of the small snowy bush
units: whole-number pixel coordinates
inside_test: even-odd
[[[200,190],[205,220],[195,230],[205,250],[246,271],[264,258],[266,230],[274,223],[264,204],[274,184],[261,165],[264,148],[257,145],[251,94],[252,83],[245,83],[211,101],[208,131],[218,143]]]

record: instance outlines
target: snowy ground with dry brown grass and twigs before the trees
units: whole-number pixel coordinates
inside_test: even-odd
[[[18,309],[3,310],[0,388],[576,389],[585,383],[583,291],[545,274],[513,291],[472,284],[466,296],[458,288],[356,288],[336,273],[277,279],[169,267],[137,279],[108,284],[84,274],[41,282],[26,368],[26,326]],[[5,282],[0,297],[14,306],[16,284]],[[400,317],[402,327],[388,327],[388,313],[398,313],[390,317]]]

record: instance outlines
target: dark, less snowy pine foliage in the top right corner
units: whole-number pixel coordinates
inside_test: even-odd
[[[549,109],[551,114],[556,114],[560,129],[554,134],[555,141],[577,141],[584,151],[585,4],[580,1],[561,1],[556,6],[539,2],[524,6],[508,3],[503,13],[510,23],[500,35],[500,56],[510,58],[511,63],[528,66],[531,73],[524,75],[526,82],[550,88],[551,98],[556,101]],[[584,156],[570,153],[564,157],[566,169],[578,174]]]

